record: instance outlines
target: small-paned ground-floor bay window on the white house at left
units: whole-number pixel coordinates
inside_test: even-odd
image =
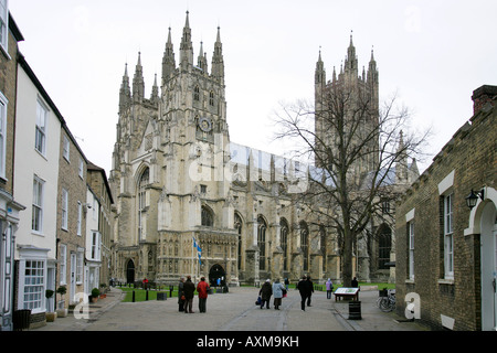
[[[24,309],[41,310],[45,299],[45,261],[25,260],[24,266]]]

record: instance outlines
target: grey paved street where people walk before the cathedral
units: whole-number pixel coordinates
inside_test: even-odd
[[[290,290],[281,310],[255,306],[258,289],[230,288],[229,293],[209,296],[207,313],[178,311],[177,298],[165,301],[120,302],[123,293],[113,288],[106,299],[89,307],[89,319],[74,314],[57,318],[45,327],[31,331],[423,331],[417,323],[399,322],[393,313],[376,307],[378,290],[361,291],[362,320],[348,320],[348,302],[326,299],[326,292],[315,292],[310,308],[300,310],[298,291]],[[271,301],[271,304],[273,300]]]

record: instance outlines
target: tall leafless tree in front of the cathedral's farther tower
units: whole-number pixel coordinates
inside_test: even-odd
[[[410,115],[396,108],[395,96],[382,107],[374,101],[355,87],[334,85],[316,99],[316,107],[299,100],[282,104],[275,114],[279,127],[275,138],[285,145],[292,141],[293,158],[309,165],[308,188],[299,202],[313,218],[326,220],[335,229],[346,286],[352,279],[358,235],[372,217],[382,216],[382,202],[395,200],[394,179],[402,169],[408,172],[408,156],[419,157],[427,137],[427,132],[405,133]]]

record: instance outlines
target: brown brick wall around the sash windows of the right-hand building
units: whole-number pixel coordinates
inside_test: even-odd
[[[496,188],[496,108],[484,108],[463,126],[406,192],[396,213],[398,312],[404,314],[408,292],[421,297],[421,321],[442,329],[441,314],[455,319],[454,330],[479,330],[480,246],[478,235],[464,235],[470,190]],[[438,183],[454,171],[454,279],[444,279],[443,204]],[[406,280],[409,239],[405,214],[415,208],[414,281]]]

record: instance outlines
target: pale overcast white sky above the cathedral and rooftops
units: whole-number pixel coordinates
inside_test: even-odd
[[[195,61],[203,41],[209,67],[221,28],[231,140],[268,152],[282,153],[272,142],[274,109],[314,97],[319,49],[331,78],[351,31],[359,67],[368,67],[374,47],[380,101],[396,93],[414,127],[433,127],[432,154],[473,115],[473,90],[497,84],[495,0],[11,0],[9,7],[24,36],[21,52],[107,176],[125,64],[133,77],[141,52],[149,97],[169,26],[179,62],[187,10]]]

